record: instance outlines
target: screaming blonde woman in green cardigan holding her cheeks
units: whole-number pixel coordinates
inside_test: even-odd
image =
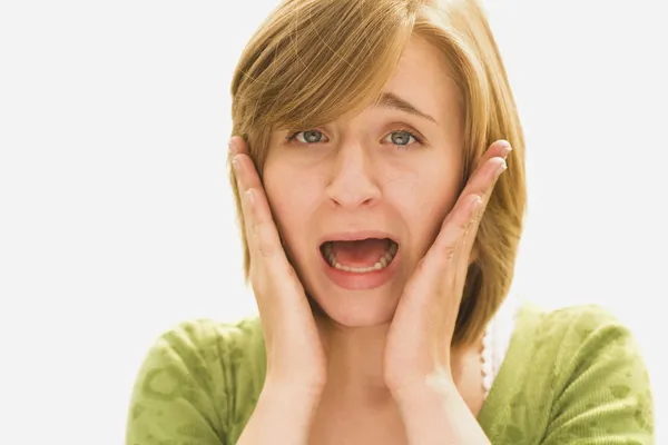
[[[232,93],[259,318],[165,334],[128,444],[652,443],[628,329],[507,301],[524,141],[475,1],[284,1]]]

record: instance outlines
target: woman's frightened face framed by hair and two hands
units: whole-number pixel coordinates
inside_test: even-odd
[[[445,58],[413,38],[384,92],[291,140],[274,132],[263,175],[307,294],[345,326],[392,319],[461,185],[462,110]]]

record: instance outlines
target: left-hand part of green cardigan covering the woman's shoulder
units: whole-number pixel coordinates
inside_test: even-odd
[[[127,443],[220,443],[264,379],[259,320],[183,322],[157,337],[137,374]],[[191,442],[187,442],[191,441]]]

